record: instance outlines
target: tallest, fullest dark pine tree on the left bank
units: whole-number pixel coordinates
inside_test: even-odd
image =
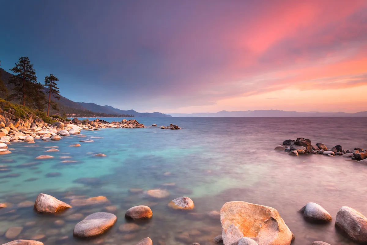
[[[9,83],[14,84],[14,94],[10,95],[11,99],[18,99],[25,102],[32,102],[34,99],[34,83],[37,83],[36,71],[33,69],[33,64],[30,64],[29,57],[20,57],[19,62],[10,69],[13,76]]]

